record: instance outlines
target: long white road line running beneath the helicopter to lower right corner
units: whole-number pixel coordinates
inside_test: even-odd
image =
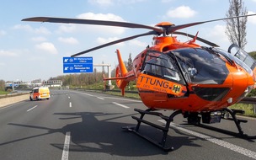
[[[165,120],[158,120],[158,121],[160,121],[162,123],[166,123]],[[211,136],[206,136],[204,134],[201,134],[201,133],[198,133],[198,132],[195,132],[195,131],[187,130],[187,129],[183,128],[181,125],[178,125],[178,124],[175,124],[175,123],[171,123],[170,126],[172,126],[175,129],[178,129],[180,131],[187,132],[190,135],[197,136],[197,137],[200,137],[202,139],[205,139],[206,141],[211,141],[212,143],[215,143],[216,145],[219,145],[221,147],[226,147],[227,149],[230,149],[234,152],[238,152],[240,154],[243,154],[244,156],[256,159],[256,152],[253,152],[253,151],[248,150],[246,148],[238,147],[237,145],[234,145],[234,144],[229,143],[227,141],[222,141],[222,140],[213,138]]]

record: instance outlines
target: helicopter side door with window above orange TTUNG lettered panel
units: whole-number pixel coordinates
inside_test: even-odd
[[[186,83],[175,57],[158,51],[147,51],[136,87],[139,90],[166,93],[169,98],[183,97],[187,93]]]

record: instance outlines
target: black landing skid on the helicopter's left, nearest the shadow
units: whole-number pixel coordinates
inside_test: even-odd
[[[172,151],[173,147],[166,147],[166,139],[168,136],[168,130],[169,130],[169,126],[170,123],[173,121],[174,116],[179,115],[182,113],[181,110],[176,110],[173,112],[172,115],[170,116],[165,116],[161,113],[158,112],[154,112],[153,109],[147,109],[147,110],[141,110],[141,109],[134,109],[136,112],[139,112],[141,114],[140,118],[136,117],[136,116],[131,116],[133,119],[137,120],[137,125],[136,126],[125,126],[122,127],[123,129],[125,129],[126,131],[133,131],[134,133],[136,133],[136,135],[141,136],[142,138],[146,139],[147,141],[152,142],[152,144],[156,145],[157,147],[162,148],[164,151],[168,152],[168,151]],[[156,115],[158,117],[161,117],[163,120],[166,121],[166,125],[163,127],[161,125],[156,125],[153,124],[152,122],[149,122],[147,120],[143,120],[144,115]],[[147,124],[147,125],[151,125],[154,128],[157,128],[160,131],[163,131],[163,137],[162,137],[162,141],[155,141],[152,138],[142,135],[139,132],[141,123]]]

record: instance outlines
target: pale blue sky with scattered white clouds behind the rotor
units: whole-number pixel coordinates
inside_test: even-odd
[[[256,0],[244,0],[248,13],[256,13]],[[48,80],[65,75],[62,57],[103,45],[147,29],[126,29],[82,24],[25,22],[30,17],[59,17],[124,21],[154,26],[160,22],[188,24],[226,17],[228,0],[1,0],[0,4],[0,80]],[[225,22],[181,29],[179,31],[210,40],[227,51],[231,43],[225,34]],[[256,16],[248,18],[245,51],[256,51]],[[178,36],[178,40],[189,38]],[[197,42],[197,41],[196,41]],[[200,44],[198,42],[198,44]],[[93,64],[118,64],[115,51],[120,50],[124,61],[134,58],[147,45],[152,35],[111,45],[83,56],[93,56]],[[200,44],[204,45],[204,44]],[[207,45],[206,45],[207,46]],[[98,71],[100,67],[96,68]]]

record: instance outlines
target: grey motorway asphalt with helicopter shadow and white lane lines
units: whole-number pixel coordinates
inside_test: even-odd
[[[164,152],[123,126],[136,125],[134,109],[147,109],[140,100],[104,93],[52,90],[51,99],[0,108],[0,159],[256,159],[255,139],[247,140],[187,125],[177,115],[168,131]],[[161,111],[171,115],[173,111]],[[163,125],[156,116],[147,120]],[[256,136],[256,121],[248,119],[243,131]],[[213,126],[237,131],[230,120]],[[158,140],[156,129],[142,125],[141,133]]]

